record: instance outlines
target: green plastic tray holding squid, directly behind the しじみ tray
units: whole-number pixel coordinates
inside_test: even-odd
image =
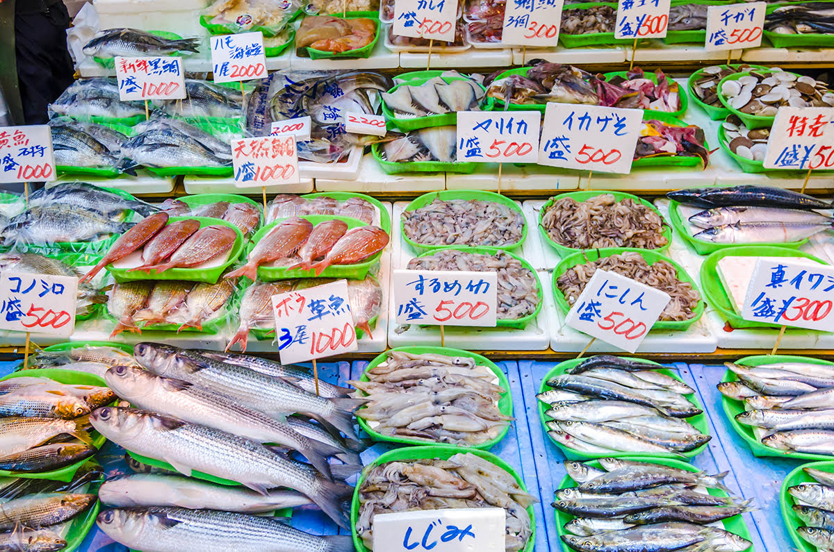
[[[446,356],[455,356],[455,357],[467,357],[470,359],[475,359],[475,361],[481,365],[486,366],[495,374],[495,377],[498,378],[498,384],[504,388],[505,393],[501,396],[500,400],[498,401],[498,409],[500,410],[501,414],[505,416],[512,416],[513,415],[513,399],[512,395],[510,394],[510,381],[505,376],[504,372],[498,368],[495,363],[487,359],[486,357],[481,356],[480,354],[470,353],[469,351],[464,351],[462,349],[450,349],[448,347],[423,347],[423,346],[413,346],[413,347],[398,347],[396,349],[390,349],[390,351],[405,351],[408,353],[414,354],[444,354]],[[376,358],[370,361],[368,367],[364,369],[362,376],[359,378],[359,381],[370,381],[367,373],[369,370],[376,368],[379,364],[384,363],[388,359],[387,353],[382,353],[377,355]],[[365,396],[364,393],[361,391],[359,392],[361,396]],[[362,407],[364,408],[364,407]],[[417,445],[424,445],[429,447],[437,447],[437,446],[448,446],[442,443],[430,443],[427,442],[425,439],[412,439],[409,437],[395,437],[393,435],[384,435],[375,431],[370,427],[368,422],[357,416],[356,419],[359,420],[359,426],[365,430],[367,434],[371,436],[371,438],[377,441],[389,441],[391,443],[400,443],[400,444],[417,444]],[[465,449],[484,449],[489,450],[494,447],[496,444],[500,443],[501,439],[504,439],[507,432],[510,430],[510,425],[508,424],[500,434],[495,436],[495,439],[490,439],[489,441],[485,441],[481,444],[473,444],[469,447],[464,447]]]

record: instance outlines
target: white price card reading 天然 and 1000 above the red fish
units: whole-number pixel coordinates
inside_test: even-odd
[[[292,135],[232,140],[235,188],[299,183],[299,153]]]

